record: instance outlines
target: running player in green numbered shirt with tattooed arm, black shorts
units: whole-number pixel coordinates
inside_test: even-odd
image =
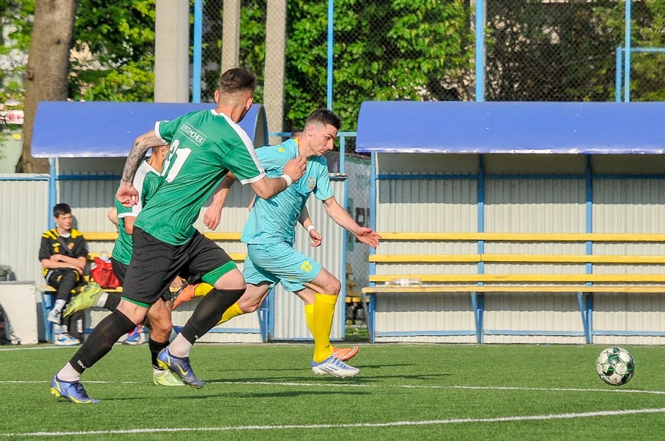
[[[160,352],[158,361],[187,385],[203,387],[191,368],[191,348],[244,294],[246,284],[229,255],[196,231],[193,223],[229,171],[242,183],[251,183],[259,198],[270,198],[297,181],[306,166],[304,158],[296,158],[284,166],[281,176],[265,176],[248,135],[238,126],[251,107],[255,88],[253,73],[229,69],[215,91],[216,109],[157,121],[154,131],[136,139],[116,198],[125,206],[136,203],[138,191],[132,181],[141,158],[149,148],[169,144],[162,181],[136,218],[122,300],[54,375],[50,389],[57,397],[74,403],[97,401],[83,389],[81,373],[106,355],[121,335],[143,322],[152,303],[178,274],[208,282],[215,289],[198,304],[180,334]]]

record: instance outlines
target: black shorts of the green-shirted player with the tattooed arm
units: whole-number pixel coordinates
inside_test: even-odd
[[[162,242],[138,226],[134,227],[132,238],[134,249],[122,296],[134,303],[152,305],[177,275],[190,283],[203,280],[215,284],[219,277],[236,268],[226,251],[198,231],[183,245]]]

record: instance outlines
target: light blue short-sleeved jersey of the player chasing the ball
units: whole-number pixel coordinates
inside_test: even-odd
[[[256,155],[270,178],[281,176],[284,164],[298,157],[298,144],[287,140],[280,145],[261,147]],[[310,157],[305,174],[282,193],[267,200],[256,198],[240,240],[251,244],[287,242],[293,245],[296,224],[310,193],[319,200],[333,196],[328,162],[324,157]]]

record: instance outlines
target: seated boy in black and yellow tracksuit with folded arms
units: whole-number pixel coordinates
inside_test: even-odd
[[[56,227],[42,234],[40,261],[44,278],[56,292],[55,306],[47,320],[60,325],[60,317],[71,291],[83,282],[83,271],[88,263],[88,244],[83,234],[71,227],[73,217],[69,205],[61,203],[53,207]],[[83,337],[83,312],[67,318],[66,332],[59,335],[55,344],[76,346]]]

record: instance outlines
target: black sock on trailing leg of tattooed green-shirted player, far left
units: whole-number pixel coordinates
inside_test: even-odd
[[[76,372],[83,373],[84,370],[100,361],[122,334],[133,330],[135,326],[134,322],[129,320],[126,315],[114,310],[99,325],[95,326],[92,334],[88,336],[83,346],[76,351],[69,363]]]

